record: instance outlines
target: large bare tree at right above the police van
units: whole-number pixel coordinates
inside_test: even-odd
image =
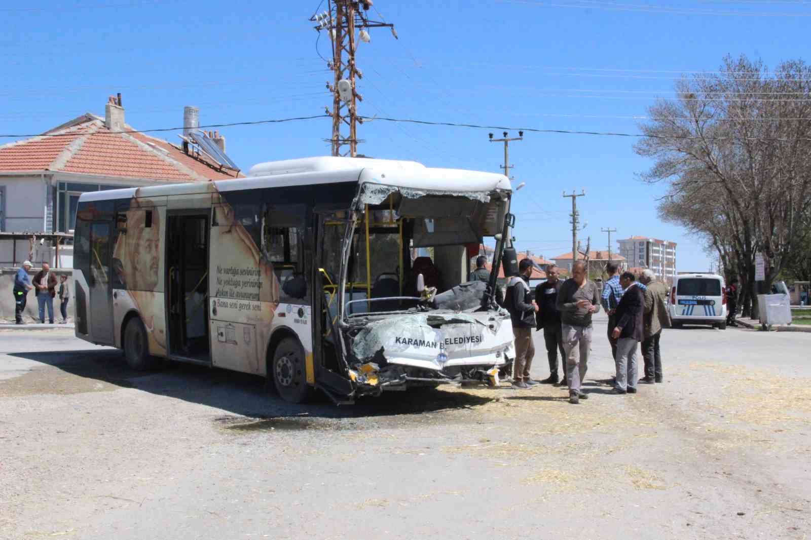
[[[764,289],[808,241],[811,68],[724,59],[719,75],[676,84],[678,98],[650,107],[636,146],[654,160],[646,182],[667,182],[659,207],[740,272],[756,298],[754,257],[767,259]],[[734,262],[734,266],[733,266]]]

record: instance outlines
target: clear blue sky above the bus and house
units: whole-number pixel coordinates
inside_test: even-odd
[[[103,115],[115,92],[136,129],[181,125],[183,105],[199,106],[203,123],[320,114],[331,105],[324,88],[331,74],[307,20],[318,5],[4,2],[0,133]],[[638,117],[655,98],[672,98],[683,73],[717,71],[726,54],[775,66],[809,52],[811,2],[792,0],[375,0],[375,7],[400,39],[373,30],[371,43],[359,46],[366,115],[636,133]],[[317,45],[324,57],[326,37]],[[487,131],[369,122],[360,151],[497,171],[503,149],[487,142]],[[222,132],[245,170],[329,152],[326,119]],[[607,247],[600,229],[611,227],[612,242],[633,234],[678,242],[678,269],[706,270],[710,259],[697,240],[659,221],[655,199],[664,186],[637,179],[650,161],[634,154],[633,141],[529,133],[513,144],[513,175],[526,182],[513,205],[519,249],[547,258],[570,251],[570,200],[561,192],[585,188],[581,238],[590,236],[594,248]]]

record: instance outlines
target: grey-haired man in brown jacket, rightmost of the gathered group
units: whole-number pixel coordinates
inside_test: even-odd
[[[662,328],[670,326],[670,315],[667,313],[667,285],[656,279],[650,269],[642,272],[639,281],[645,289],[645,341],[642,341],[642,358],[645,359],[645,376],[640,383],[652,384],[662,382],[662,356],[659,354],[659,338]]]

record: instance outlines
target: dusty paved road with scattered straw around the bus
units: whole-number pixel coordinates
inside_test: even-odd
[[[666,330],[665,383],[611,396],[595,326],[581,405],[544,385],[344,408],[0,331],[0,538],[809,538],[811,335]]]

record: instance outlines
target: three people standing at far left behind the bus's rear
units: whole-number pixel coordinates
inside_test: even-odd
[[[31,271],[31,261],[25,261],[23,267],[17,270],[14,276],[14,317],[16,324],[25,324],[23,321],[23,311],[28,303],[28,291],[34,289],[36,303],[39,308],[40,322],[45,323],[45,311],[48,312],[48,321],[54,324],[54,298],[59,295],[59,311],[62,314],[62,324],[67,323],[67,303],[71,298],[71,292],[67,282],[67,276],[62,274],[57,278],[51,272],[48,263],[42,264],[40,272],[36,272],[33,279],[28,276]]]

